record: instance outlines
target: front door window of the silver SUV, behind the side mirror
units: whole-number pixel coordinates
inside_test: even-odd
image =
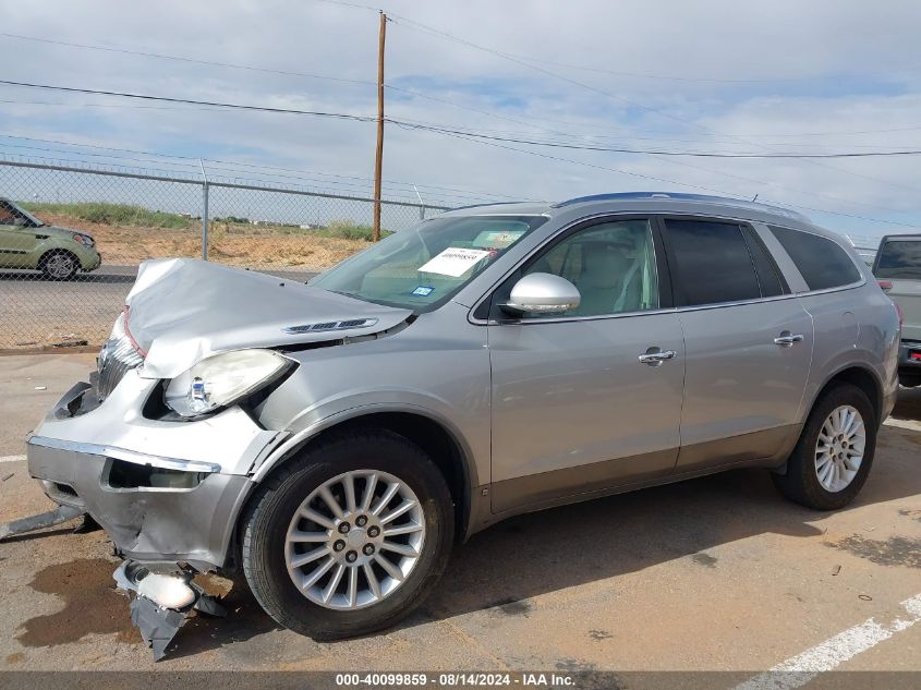
[[[579,289],[582,295],[579,307],[562,316],[603,316],[658,308],[655,251],[646,219],[601,222],[568,235],[517,271],[497,291],[494,304],[507,300],[520,278],[535,273],[561,276]]]

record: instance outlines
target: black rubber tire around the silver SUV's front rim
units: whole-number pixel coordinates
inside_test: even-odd
[[[387,546],[379,542],[378,550],[374,556],[363,556],[362,550],[367,548],[367,543],[362,546],[361,541],[353,544],[353,538],[366,540],[374,533],[374,524],[366,522],[366,530],[360,530],[360,517],[365,520],[378,520],[372,515],[372,510],[362,510],[361,504],[365,498],[365,491],[371,483],[368,474],[364,471],[376,473],[379,477],[375,483],[372,495],[371,508],[383,499],[386,491],[384,486],[391,487],[392,483],[387,480],[401,482],[400,493],[395,496],[380,511],[378,528],[379,540],[401,540],[412,544],[411,540],[421,538],[416,553],[417,557],[409,566],[408,574],[404,574],[402,582],[387,574],[380,564],[380,557],[387,557],[390,561],[392,556],[396,559],[403,559],[402,565],[398,560],[396,567],[405,570],[404,566],[409,558],[385,550]],[[324,507],[329,508],[325,499],[317,498],[315,492],[327,485],[328,482],[338,480],[343,474],[350,473],[353,476],[353,489],[358,508],[354,512],[346,511],[344,518],[336,518],[332,511],[320,517],[331,520],[326,530],[326,537],[329,541],[322,542],[317,538],[324,533],[324,528],[318,522],[294,516],[301,513],[302,504],[311,496],[312,503],[307,505],[314,510],[312,515],[323,512]],[[353,474],[352,474],[353,473]],[[341,491],[340,491],[341,489]],[[402,517],[391,520],[385,524],[388,513],[395,511],[396,507],[404,506],[408,501],[407,492],[417,498],[417,508],[403,513]],[[344,484],[332,484],[329,495],[337,504],[346,507]],[[402,503],[396,503],[402,501]],[[362,512],[367,513],[362,516]],[[407,516],[414,516],[409,517]],[[422,521],[424,530],[419,537],[413,535],[401,535],[387,537],[387,530],[393,525],[413,529],[417,521]],[[351,521],[351,522],[350,522]],[[351,531],[340,534],[342,522],[350,522]],[[289,531],[300,536],[310,536],[315,544],[292,544],[289,541]],[[383,530],[383,531],[381,531]],[[336,640],[347,637],[355,637],[376,632],[389,628],[416,608],[432,591],[438,578],[445,570],[450,555],[455,534],[455,511],[448,486],[438,468],[432,459],[409,439],[384,429],[365,429],[331,436],[322,440],[316,446],[308,447],[300,456],[290,459],[277,472],[271,474],[259,487],[257,494],[250,503],[243,517],[241,531],[242,540],[242,564],[243,572],[250,589],[253,591],[256,601],[259,602],[266,613],[286,628],[301,634],[313,638],[317,641]],[[310,534],[305,534],[310,532]],[[358,534],[361,532],[361,534]],[[343,550],[335,553],[332,540],[347,543]],[[391,542],[392,543],[392,542]],[[374,546],[372,544],[372,546]],[[318,584],[312,588],[302,589],[305,581],[310,580],[316,570],[313,562],[305,565],[304,570],[293,567],[294,559],[303,556],[307,550],[325,549],[313,562],[316,570],[322,569],[327,558],[336,565],[320,577]],[[415,547],[410,546],[410,550]],[[294,549],[302,549],[295,553]],[[364,552],[367,553],[367,552]],[[358,554],[358,558],[368,564],[375,581],[378,582],[378,594],[390,586],[389,593],[384,593],[377,601],[373,601],[375,592],[372,580],[364,570],[364,564],[349,565],[341,559],[350,554]],[[339,559],[337,561],[337,559]],[[375,565],[376,564],[376,565]],[[392,565],[392,561],[391,561]],[[336,585],[335,593],[329,603],[322,604],[314,601],[318,597],[318,590],[323,586],[324,592],[339,568],[344,568],[341,582]],[[358,584],[351,588],[352,570],[355,570]],[[298,578],[302,586],[294,582]],[[389,583],[389,585],[388,585]],[[305,594],[310,592],[311,594]],[[352,592],[359,592],[354,598]],[[365,603],[361,603],[361,597]],[[368,601],[367,597],[372,597]],[[339,608],[335,608],[337,605]],[[360,605],[355,605],[360,604]]]

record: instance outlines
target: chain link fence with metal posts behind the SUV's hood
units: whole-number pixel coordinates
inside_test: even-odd
[[[0,160],[0,350],[100,344],[149,258],[305,280],[371,241],[369,198],[163,172]],[[381,234],[445,209],[384,201]]]

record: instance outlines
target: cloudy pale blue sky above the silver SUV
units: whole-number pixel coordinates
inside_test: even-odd
[[[620,148],[921,149],[917,1],[388,0],[381,7],[395,15],[386,65],[393,87],[387,90],[387,116],[393,119]],[[0,0],[0,8],[4,34],[335,77],[2,35],[2,80],[376,112],[373,10],[318,0]],[[0,85],[0,134],[350,175],[312,179],[326,180],[315,184],[327,189],[367,193],[369,183],[351,177],[372,174],[375,125]],[[80,157],[61,153],[65,148],[0,137],[0,156]],[[156,166],[183,168],[165,160]],[[384,173],[391,196],[414,196],[415,183],[426,201],[453,204],[484,193],[560,199],[672,190],[758,194],[859,237],[921,227],[921,156],[664,157],[490,145],[388,124]]]

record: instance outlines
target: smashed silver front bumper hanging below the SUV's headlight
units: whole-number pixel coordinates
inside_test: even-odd
[[[240,408],[149,419],[159,386],[130,371],[101,403],[89,384],[74,386],[29,436],[29,474],[49,498],[93,517],[124,558],[223,567],[249,474],[286,434]]]

